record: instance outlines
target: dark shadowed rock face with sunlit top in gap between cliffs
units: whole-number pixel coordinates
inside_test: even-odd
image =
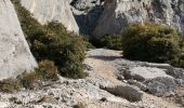
[[[82,35],[92,33],[103,12],[101,0],[73,0],[71,8],[79,32]]]

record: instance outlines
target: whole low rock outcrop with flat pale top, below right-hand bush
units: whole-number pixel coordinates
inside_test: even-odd
[[[145,62],[117,62],[121,68],[117,71],[129,84],[156,96],[170,96],[178,93],[181,81],[176,79],[173,67],[168,64]],[[175,75],[175,76],[174,76]],[[178,76],[182,77],[180,72]]]

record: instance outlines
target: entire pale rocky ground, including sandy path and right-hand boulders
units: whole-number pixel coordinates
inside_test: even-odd
[[[175,69],[167,64],[131,62],[121,58],[119,51],[104,49],[89,51],[84,64],[88,78],[61,77],[56,82],[44,82],[41,90],[0,93],[0,108],[182,108],[184,91],[178,80],[184,79],[171,76],[168,70]],[[182,77],[181,71],[175,75]]]

